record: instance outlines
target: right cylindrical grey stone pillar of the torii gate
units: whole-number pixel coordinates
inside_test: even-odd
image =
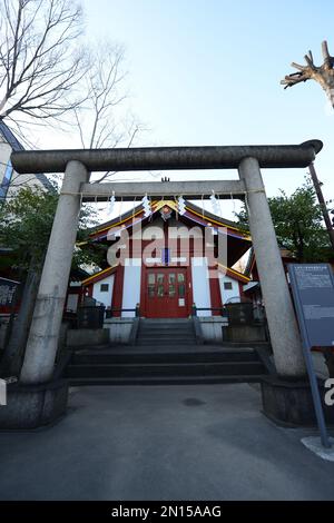
[[[284,378],[304,377],[298,327],[257,159],[244,158],[238,170],[247,189],[250,236],[276,369]]]

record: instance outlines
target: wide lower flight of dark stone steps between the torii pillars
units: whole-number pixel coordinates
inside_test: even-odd
[[[252,348],[185,351],[85,349],[72,354],[65,376],[70,385],[173,385],[258,383],[268,374]]]

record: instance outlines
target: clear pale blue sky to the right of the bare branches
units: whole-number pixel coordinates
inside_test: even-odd
[[[315,167],[325,199],[334,198],[334,110],[314,81],[279,85],[308,49],[322,63],[324,39],[334,55],[332,0],[85,0],[84,7],[89,39],[125,47],[129,103],[149,129],[137,145],[321,139]],[[236,171],[165,174],[237,178]],[[267,195],[293,193],[305,174],[264,170]]]

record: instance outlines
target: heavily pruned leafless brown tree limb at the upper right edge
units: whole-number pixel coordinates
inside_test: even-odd
[[[324,89],[334,108],[334,57],[331,57],[326,41],[322,42],[322,51],[324,58],[322,66],[317,67],[314,65],[312,51],[308,51],[304,57],[306,66],[292,62],[292,67],[298,69],[298,72],[285,76],[281,83],[286,89],[302,81],[315,80]]]

